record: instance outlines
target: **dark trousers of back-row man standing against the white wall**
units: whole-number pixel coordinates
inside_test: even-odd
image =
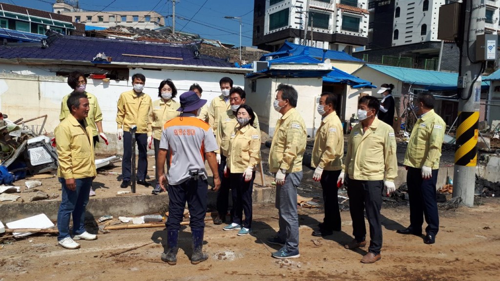
[[[144,180],[147,173],[147,133],[135,133],[135,145],[139,150],[137,161],[137,180]],[[123,132],[123,159],[121,160],[122,180],[130,180],[132,174],[132,134],[129,131]]]

